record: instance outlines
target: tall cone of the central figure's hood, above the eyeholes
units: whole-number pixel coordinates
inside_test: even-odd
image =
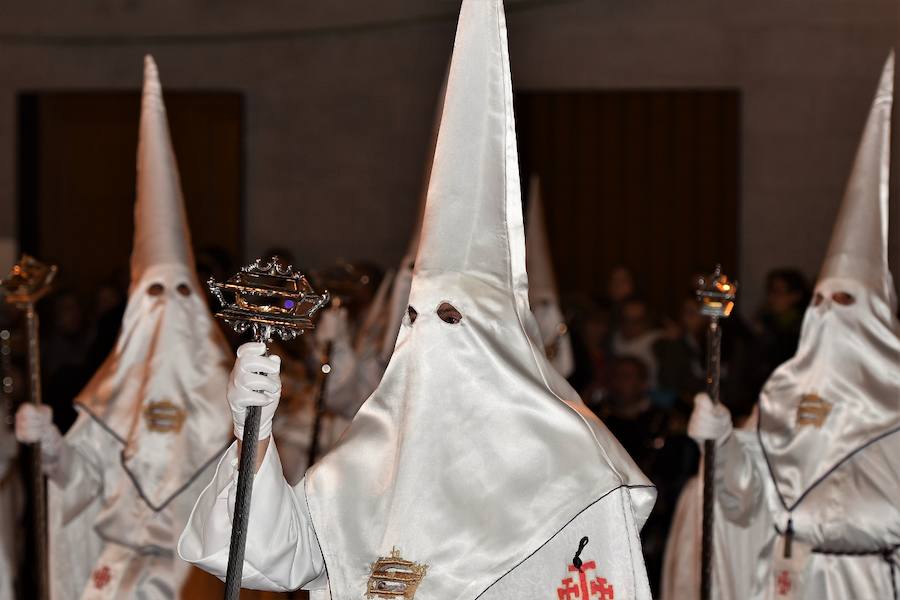
[[[463,0],[460,8],[416,256],[416,274],[425,272],[464,273],[517,294],[527,285],[500,0]]]

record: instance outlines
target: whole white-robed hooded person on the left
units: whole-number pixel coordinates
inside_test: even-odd
[[[54,600],[179,596],[178,535],[230,438],[230,351],[194,271],[156,64],[145,59],[131,287],[116,346],[75,399],[60,439],[50,411],[20,410],[49,477]],[[26,405],[28,406],[28,405]]]

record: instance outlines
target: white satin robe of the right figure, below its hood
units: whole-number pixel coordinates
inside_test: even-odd
[[[721,514],[764,536],[751,571],[752,600],[777,598],[776,531],[793,519],[794,539],[814,548],[795,599],[887,600],[900,586],[900,433],[855,454],[789,515],[769,476],[758,438],[733,435],[717,453]],[[755,534],[754,534],[755,535]],[[892,584],[892,578],[894,583]]]

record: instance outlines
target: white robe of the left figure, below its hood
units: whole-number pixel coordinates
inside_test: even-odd
[[[191,567],[175,544],[215,463],[155,512],[121,466],[121,443],[89,415],[65,445],[65,481],[48,486],[53,600],[178,598]]]

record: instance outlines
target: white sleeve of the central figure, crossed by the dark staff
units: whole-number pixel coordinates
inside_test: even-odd
[[[228,568],[231,511],[228,495],[237,483],[236,444],[228,449],[178,540],[178,555],[220,579]],[[325,561],[316,541],[304,492],[281,471],[274,440],[253,481],[250,526],[242,587],[285,592],[311,589],[324,581]]]

